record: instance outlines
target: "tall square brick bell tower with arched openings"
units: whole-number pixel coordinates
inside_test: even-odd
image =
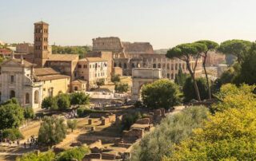
[[[49,24],[46,22],[34,23],[34,64],[36,68],[42,68],[50,53],[48,50],[48,30]]]

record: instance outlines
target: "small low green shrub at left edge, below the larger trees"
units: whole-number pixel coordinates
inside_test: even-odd
[[[23,139],[24,136],[19,132],[18,128],[7,128],[2,131],[2,139],[10,139],[12,141],[16,139]]]

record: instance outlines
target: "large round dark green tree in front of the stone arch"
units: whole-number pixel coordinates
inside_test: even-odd
[[[142,101],[148,108],[172,108],[181,102],[178,85],[164,79],[142,86]]]

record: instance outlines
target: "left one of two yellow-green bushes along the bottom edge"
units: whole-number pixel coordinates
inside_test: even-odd
[[[34,152],[26,153],[16,158],[16,161],[54,161],[54,151],[40,152],[36,155]]]

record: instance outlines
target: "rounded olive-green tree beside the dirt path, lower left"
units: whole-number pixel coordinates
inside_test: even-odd
[[[45,117],[38,133],[38,143],[42,146],[52,146],[60,143],[66,137],[64,120],[56,117]]]

